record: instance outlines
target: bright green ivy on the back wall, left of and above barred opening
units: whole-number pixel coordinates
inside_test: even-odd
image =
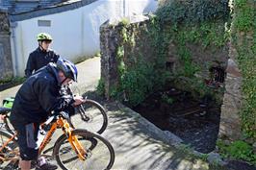
[[[204,64],[195,63],[192,59],[192,51],[188,44],[194,44],[202,50],[214,51],[214,49],[223,48],[228,40],[229,33],[224,32],[223,21],[201,22],[199,24],[184,24],[181,26],[173,26],[166,28],[165,34],[168,41],[171,41],[177,49],[179,66],[174,71],[173,82],[176,86],[182,86],[183,89],[192,92],[195,97],[203,97],[205,95],[212,96],[219,103],[223,91],[213,90],[205,85],[202,78],[197,77],[202,70],[209,70]],[[220,27],[222,25],[222,27]]]

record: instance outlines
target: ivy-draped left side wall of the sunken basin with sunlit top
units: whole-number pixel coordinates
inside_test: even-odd
[[[156,36],[159,24],[149,17],[123,18],[120,22],[101,26],[99,86],[107,97],[131,106],[141,103],[150,92],[165,83],[164,59],[159,58],[152,45],[159,38]]]

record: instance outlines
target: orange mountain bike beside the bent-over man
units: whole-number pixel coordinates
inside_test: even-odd
[[[0,108],[2,115],[8,111],[9,109]],[[41,124],[44,129],[50,128],[39,144],[39,155],[45,154],[42,151],[52,135],[57,129],[62,129],[64,134],[55,142],[52,153],[62,169],[111,169],[115,161],[115,151],[111,143],[99,134],[73,129],[68,122],[61,114],[54,114]],[[9,162],[10,165],[18,160],[16,135],[0,130],[0,164]]]

